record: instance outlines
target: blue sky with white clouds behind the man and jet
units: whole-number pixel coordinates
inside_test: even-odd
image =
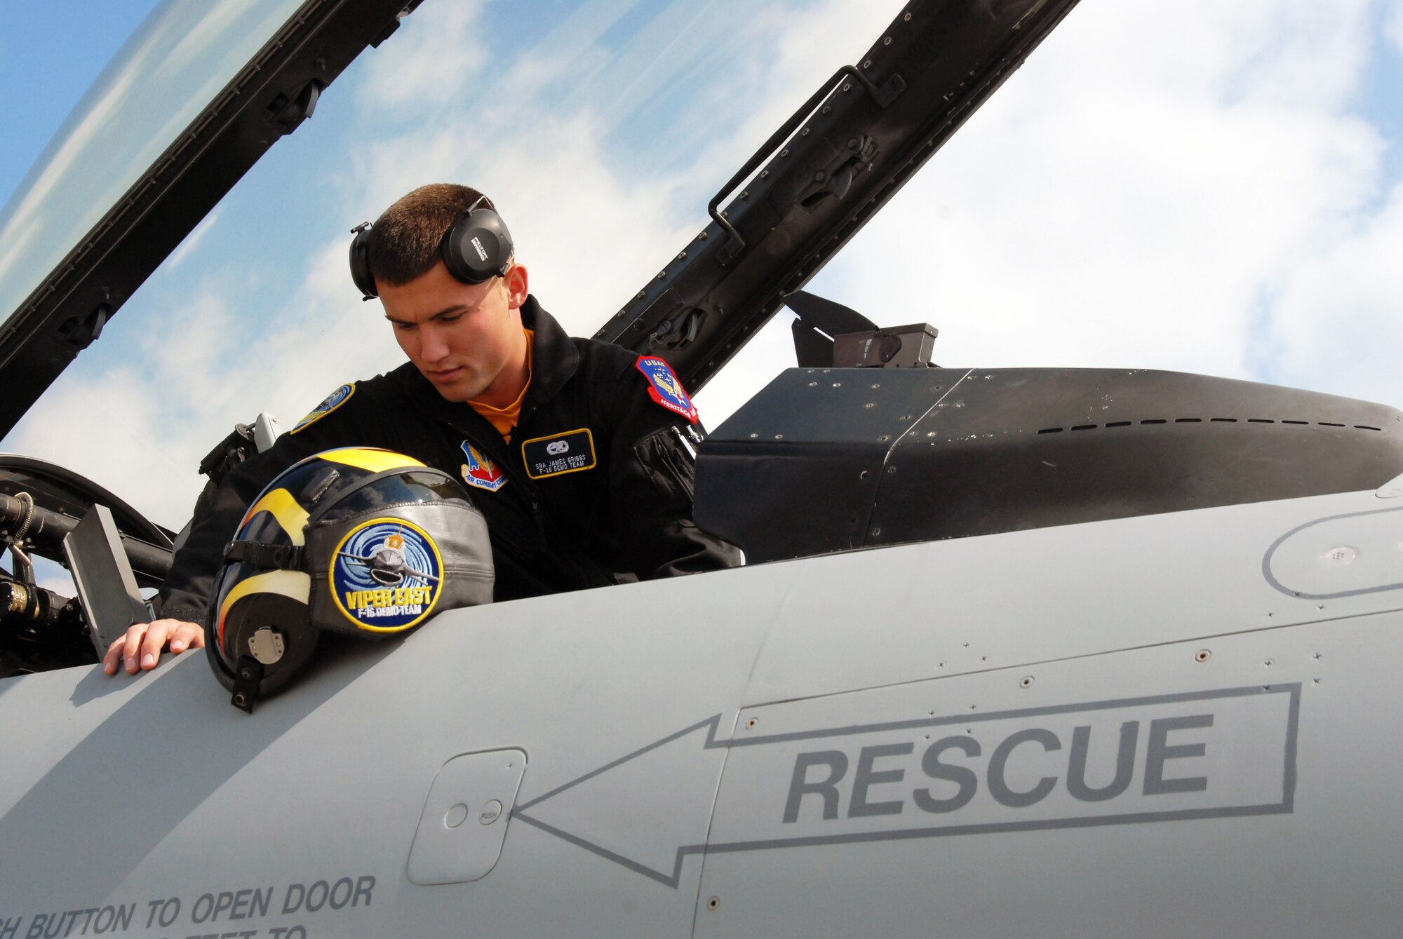
[[[0,7],[0,191],[152,6]],[[533,292],[589,335],[899,8],[427,0],[0,447],[178,526],[236,420],[295,422],[397,364],[351,287],[347,230],[436,179],[494,195]],[[1403,0],[1087,0],[810,289],[933,322],[944,364],[1162,367],[1403,405],[1400,49]],[[700,392],[703,418],[791,363],[777,318]]]

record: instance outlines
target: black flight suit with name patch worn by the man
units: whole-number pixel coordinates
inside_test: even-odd
[[[692,420],[650,397],[638,356],[567,336],[535,297],[521,313],[535,343],[511,444],[412,363],[356,383],[229,472],[173,559],[161,615],[203,622],[247,506],[297,460],[347,446],[394,450],[469,484],[492,540],[497,600],[739,565],[738,548],[692,521]]]

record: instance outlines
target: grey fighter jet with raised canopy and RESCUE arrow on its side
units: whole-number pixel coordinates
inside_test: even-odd
[[[161,20],[251,52],[6,285],[4,427],[415,6]],[[689,390],[796,314],[798,366],[697,447],[745,568],[328,643],[247,715],[198,654],[93,664],[177,533],[4,457],[0,939],[1395,933],[1403,413],[940,367],[933,325],[804,289],[1073,7],[908,3],[620,290],[598,338]]]

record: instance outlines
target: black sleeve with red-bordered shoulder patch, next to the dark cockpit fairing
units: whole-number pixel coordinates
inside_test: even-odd
[[[692,520],[690,422],[650,401],[638,383],[623,384],[633,394],[615,432],[610,505],[633,572],[647,580],[742,565],[739,548]]]

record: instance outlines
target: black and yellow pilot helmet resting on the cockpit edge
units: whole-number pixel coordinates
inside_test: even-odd
[[[487,523],[446,472],[389,450],[307,457],[254,499],[215,582],[205,649],[233,704],[283,688],[323,631],[384,638],[492,600]]]

